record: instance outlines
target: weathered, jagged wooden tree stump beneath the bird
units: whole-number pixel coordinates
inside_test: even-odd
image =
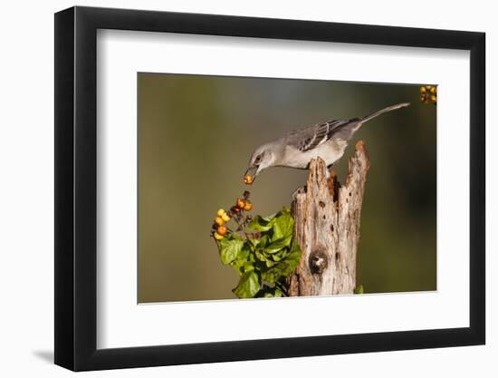
[[[311,160],[306,187],[292,200],[294,237],[302,250],[301,261],[289,279],[289,296],[353,294],[359,218],[369,171],[363,141],[356,144],[341,186],[337,175],[320,158]]]

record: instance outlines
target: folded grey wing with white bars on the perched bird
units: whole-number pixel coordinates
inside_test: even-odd
[[[336,134],[340,139],[349,141],[354,131],[358,129],[359,124],[359,119],[318,123],[300,130],[291,131],[287,136],[287,144],[297,150],[306,152],[316,149]]]

